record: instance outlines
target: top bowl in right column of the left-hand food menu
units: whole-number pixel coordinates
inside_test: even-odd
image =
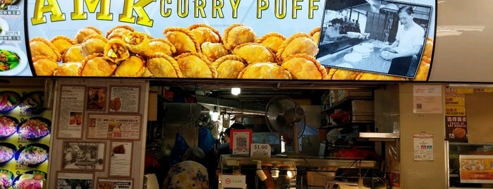
[[[41,114],[46,110],[44,107],[44,91],[23,92],[19,106],[30,114]]]

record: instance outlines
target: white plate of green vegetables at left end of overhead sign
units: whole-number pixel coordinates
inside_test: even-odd
[[[28,66],[28,56],[18,47],[0,46],[0,75],[17,75]]]

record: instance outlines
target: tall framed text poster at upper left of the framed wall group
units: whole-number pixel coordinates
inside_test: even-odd
[[[84,86],[61,86],[56,138],[83,137]]]

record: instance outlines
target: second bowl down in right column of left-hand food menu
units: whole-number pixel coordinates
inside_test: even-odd
[[[20,118],[17,133],[20,138],[39,140],[49,135],[51,121],[43,117]]]

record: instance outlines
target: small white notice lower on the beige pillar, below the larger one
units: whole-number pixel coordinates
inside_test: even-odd
[[[414,160],[433,160],[433,135],[429,133],[416,133],[414,139]]]

